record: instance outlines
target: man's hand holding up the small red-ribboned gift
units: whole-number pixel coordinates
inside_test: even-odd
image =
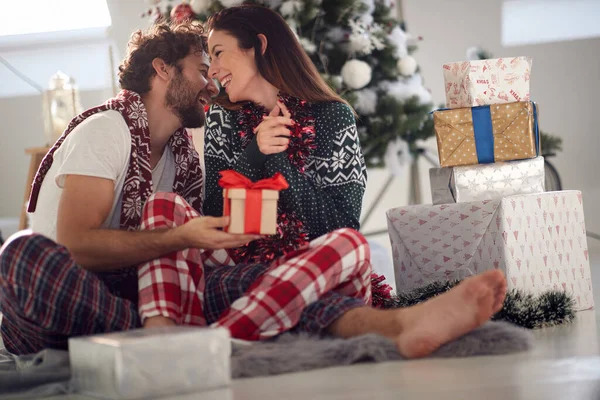
[[[260,235],[243,235],[219,230],[229,225],[229,217],[198,217],[176,228],[185,247],[197,249],[230,249],[243,246]]]

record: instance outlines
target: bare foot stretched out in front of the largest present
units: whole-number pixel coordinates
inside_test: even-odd
[[[465,279],[447,293],[413,307],[397,310],[400,353],[424,357],[488,321],[502,309],[506,279],[499,270]]]

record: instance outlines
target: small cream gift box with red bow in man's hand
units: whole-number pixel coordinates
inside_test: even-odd
[[[223,215],[231,221],[226,231],[273,235],[277,232],[277,200],[279,191],[288,183],[280,173],[252,182],[233,170],[221,171]]]

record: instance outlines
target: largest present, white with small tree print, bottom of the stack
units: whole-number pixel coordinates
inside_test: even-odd
[[[387,219],[400,293],[496,268],[509,289],[564,289],[578,310],[594,305],[578,191],[400,207]]]

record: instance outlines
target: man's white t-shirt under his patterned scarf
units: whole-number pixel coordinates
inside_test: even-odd
[[[81,122],[54,153],[31,215],[31,230],[56,241],[58,204],[66,175],[86,175],[114,182],[113,206],[102,228],[119,229],[122,191],[129,157],[131,134],[118,111],[99,112]],[[153,192],[172,192],[175,160],[167,146],[152,170]]]

